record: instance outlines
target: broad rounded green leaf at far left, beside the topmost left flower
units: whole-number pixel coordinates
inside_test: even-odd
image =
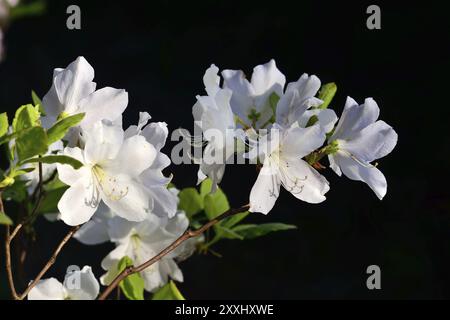
[[[16,149],[19,160],[34,157],[47,152],[47,134],[42,127],[33,127],[24,130],[16,139]]]

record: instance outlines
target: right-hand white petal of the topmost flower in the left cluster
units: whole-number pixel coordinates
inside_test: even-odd
[[[90,126],[100,120],[114,121],[128,105],[128,93],[123,89],[102,88],[80,102],[80,110],[86,112],[82,126]]]

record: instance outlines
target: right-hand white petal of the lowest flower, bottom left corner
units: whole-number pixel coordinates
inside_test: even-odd
[[[79,282],[71,280],[76,278],[79,279]],[[73,288],[74,284],[79,284],[79,288],[76,286]],[[64,287],[68,298],[71,300],[94,300],[100,291],[100,285],[89,266],[84,266],[80,271],[67,274],[64,279]]]

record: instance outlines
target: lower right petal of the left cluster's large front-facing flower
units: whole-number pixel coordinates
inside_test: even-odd
[[[153,205],[145,187],[126,175],[118,175],[113,183],[102,185],[101,197],[114,213],[130,221],[144,220]]]

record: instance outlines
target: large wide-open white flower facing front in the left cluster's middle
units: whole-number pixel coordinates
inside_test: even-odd
[[[70,186],[58,203],[61,219],[68,225],[82,224],[103,201],[125,219],[144,220],[152,201],[138,177],[155,160],[155,148],[140,135],[124,139],[122,128],[107,121],[95,123],[83,135],[84,150],[64,149],[83,166],[75,170],[57,165],[59,178]]]

